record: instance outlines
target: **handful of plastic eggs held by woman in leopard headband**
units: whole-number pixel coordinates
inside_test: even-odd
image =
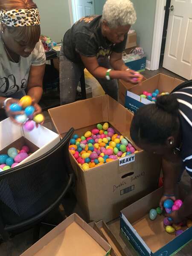
[[[24,111],[23,114],[16,115],[15,120],[23,124],[26,131],[32,131],[35,128],[35,122],[40,124],[44,121],[44,115],[38,114],[34,116],[35,108],[32,106],[32,98],[30,96],[23,96],[19,104],[13,103],[10,105],[12,112]]]

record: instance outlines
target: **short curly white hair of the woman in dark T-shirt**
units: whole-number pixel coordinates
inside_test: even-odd
[[[137,20],[134,4],[130,0],[107,0],[102,20],[106,20],[111,28],[133,25]]]

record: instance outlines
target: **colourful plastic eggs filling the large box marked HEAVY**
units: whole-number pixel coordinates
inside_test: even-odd
[[[81,137],[74,134],[69,150],[84,171],[137,152],[128,140],[109,127],[108,122],[97,124]]]

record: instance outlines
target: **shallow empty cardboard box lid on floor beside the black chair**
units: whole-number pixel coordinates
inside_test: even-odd
[[[21,256],[108,256],[110,251],[111,246],[74,213]]]

